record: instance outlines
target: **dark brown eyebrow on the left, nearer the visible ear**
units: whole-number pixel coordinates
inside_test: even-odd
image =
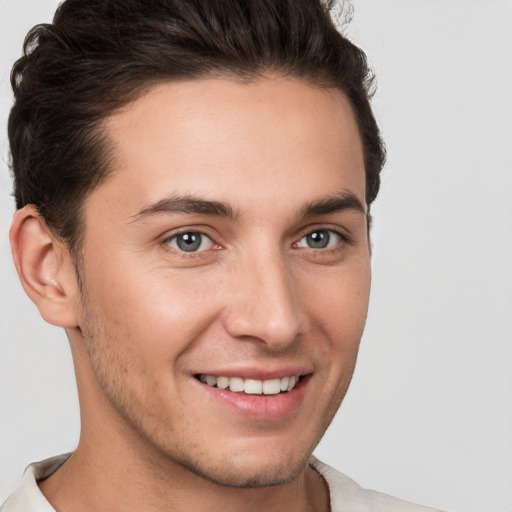
[[[196,196],[185,195],[165,197],[155,203],[144,206],[133,216],[133,222],[163,213],[197,213],[200,215],[225,217],[232,220],[239,217],[238,212],[235,212],[228,203],[209,201]]]

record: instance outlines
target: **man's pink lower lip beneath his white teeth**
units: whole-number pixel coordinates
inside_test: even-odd
[[[232,412],[253,419],[278,420],[297,411],[306,394],[311,375],[302,376],[299,383],[286,393],[277,395],[247,395],[229,389],[219,389],[195,379],[208,396]]]

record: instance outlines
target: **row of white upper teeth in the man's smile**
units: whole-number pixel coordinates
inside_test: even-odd
[[[216,377],[215,375],[200,374],[199,380],[208,386],[227,389],[235,393],[248,395],[277,395],[280,392],[291,391],[299,382],[299,377],[282,377],[281,379],[243,379],[241,377]]]

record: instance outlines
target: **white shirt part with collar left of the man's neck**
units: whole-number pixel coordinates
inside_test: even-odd
[[[38,480],[49,477],[64,462],[69,454],[59,455],[30,464],[25,470],[23,481],[18,489],[7,498],[0,512],[55,512],[37,485]]]

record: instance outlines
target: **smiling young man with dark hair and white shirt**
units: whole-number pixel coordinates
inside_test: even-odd
[[[2,511],[428,510],[311,457],[384,162],[329,6],[67,0],[12,76],[13,255],[66,329],[82,429]]]

